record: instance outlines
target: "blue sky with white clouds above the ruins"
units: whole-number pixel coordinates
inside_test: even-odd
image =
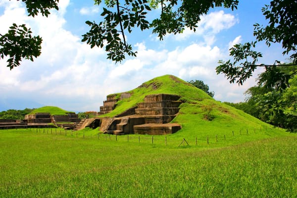
[[[106,95],[132,90],[154,77],[171,74],[185,81],[202,80],[220,101],[244,101],[244,92],[255,85],[257,70],[244,86],[230,84],[224,75],[216,75],[220,59],[228,60],[228,49],[236,43],[254,40],[253,24],[266,24],[261,7],[269,0],[240,0],[238,9],[215,8],[201,17],[197,32],[188,29],[180,35],[166,35],[159,41],[150,30],[127,35],[128,43],[138,51],[115,64],[106,59],[103,49],[90,49],[81,43],[89,27],[86,20],[99,21],[102,5],[93,0],[60,0],[59,11],[48,18],[28,17],[17,0],[0,0],[0,33],[12,23],[26,23],[43,38],[42,54],[34,62],[24,60],[9,70],[0,60],[0,111],[7,109],[59,106],[72,111],[99,111]],[[155,15],[159,10],[154,10]],[[287,61],[280,45],[267,48],[259,63]]]

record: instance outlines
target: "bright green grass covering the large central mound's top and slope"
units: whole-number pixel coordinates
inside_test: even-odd
[[[174,94],[181,96],[184,103],[180,105],[179,114],[172,122],[182,125],[182,130],[174,136],[205,140],[208,136],[216,134],[220,138],[224,135],[235,133],[236,142],[246,142],[271,136],[270,125],[254,118],[253,116],[233,108],[227,104],[216,101],[202,90],[172,75],[165,75],[149,80],[138,88],[125,92],[131,93],[129,99],[117,102],[116,108],[103,116],[115,116],[126,109],[136,106],[138,102],[144,101],[149,94]],[[116,94],[120,98],[121,93]],[[262,131],[261,135],[257,132]],[[283,130],[272,130],[273,133],[283,133]],[[237,134],[253,136],[240,138]],[[263,136],[264,134],[264,136]],[[213,140],[212,140],[213,141]],[[215,140],[216,141],[216,140]]]

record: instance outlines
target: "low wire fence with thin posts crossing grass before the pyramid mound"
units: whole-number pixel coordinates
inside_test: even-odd
[[[270,128],[271,129],[271,128]],[[19,130],[19,129],[15,129]],[[24,130],[24,129],[23,129]],[[88,131],[73,131],[64,130],[59,128],[27,128],[26,130],[32,131],[36,134],[43,135],[59,135],[78,139],[92,139],[98,141],[113,141],[113,142],[127,142],[127,143],[139,143],[139,144],[151,144],[159,146],[175,146],[175,147],[189,147],[189,146],[202,146],[207,147],[214,144],[228,144],[234,143],[243,136],[261,135],[262,127],[256,129],[245,129],[238,131],[229,131],[224,134],[201,134],[197,137],[180,137],[167,136],[167,135],[111,135],[111,134],[92,134]],[[265,129],[267,131],[267,128]]]

